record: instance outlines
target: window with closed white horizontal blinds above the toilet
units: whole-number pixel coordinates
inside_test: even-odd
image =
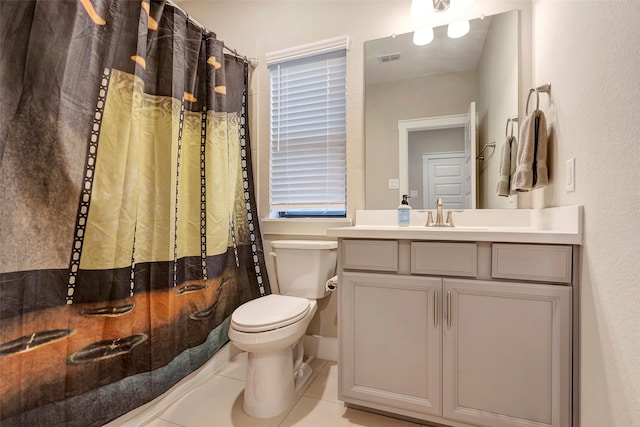
[[[267,55],[272,217],[346,214],[346,47],[331,39]]]

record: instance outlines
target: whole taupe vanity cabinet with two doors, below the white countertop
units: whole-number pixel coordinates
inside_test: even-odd
[[[343,239],[339,253],[346,403],[454,427],[571,425],[571,246]]]

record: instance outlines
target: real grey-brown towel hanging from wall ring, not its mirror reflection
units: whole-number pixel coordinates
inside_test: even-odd
[[[515,191],[531,191],[549,184],[547,170],[547,119],[535,110],[520,126],[520,142],[513,176]]]

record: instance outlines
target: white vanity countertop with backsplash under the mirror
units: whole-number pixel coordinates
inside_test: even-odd
[[[327,236],[360,239],[582,244],[582,206],[481,209],[454,214],[455,227],[425,227],[426,212],[412,210],[398,227],[396,210],[357,211],[356,225],[327,229]]]

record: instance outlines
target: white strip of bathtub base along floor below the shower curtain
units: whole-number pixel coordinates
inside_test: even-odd
[[[232,343],[225,344],[218,352],[196,371],[184,377],[169,390],[150,402],[127,412],[119,418],[105,424],[103,427],[138,427],[155,419],[172,403],[197,388],[213,373],[226,366],[241,351]]]

